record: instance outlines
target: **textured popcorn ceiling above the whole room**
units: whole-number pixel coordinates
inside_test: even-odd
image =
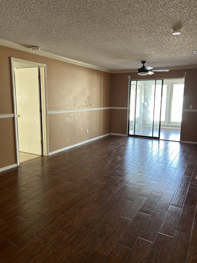
[[[197,66],[196,0],[0,0],[0,38],[106,69]],[[171,34],[181,27],[182,34]]]

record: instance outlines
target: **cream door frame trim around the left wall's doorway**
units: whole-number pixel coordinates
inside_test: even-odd
[[[14,62],[21,64],[35,66],[40,69],[40,92],[41,92],[41,111],[42,111],[42,138],[43,138],[43,155],[49,155],[49,140],[48,140],[48,103],[47,103],[47,79],[46,79],[46,64],[28,61],[24,59],[17,59],[11,57],[11,72],[12,72],[12,92],[14,104],[14,123],[15,123],[15,143],[16,143],[16,161],[19,165],[19,146],[18,146],[18,125],[16,117],[16,91],[15,91],[15,76],[14,76]]]

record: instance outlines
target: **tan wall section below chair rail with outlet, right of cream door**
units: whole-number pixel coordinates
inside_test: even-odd
[[[110,110],[49,114],[48,123],[49,152],[53,152],[110,133]]]

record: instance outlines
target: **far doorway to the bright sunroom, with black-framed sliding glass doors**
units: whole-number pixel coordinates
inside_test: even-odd
[[[180,140],[184,79],[131,80],[128,135]]]

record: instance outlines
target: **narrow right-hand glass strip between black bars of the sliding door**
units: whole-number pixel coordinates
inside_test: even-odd
[[[162,80],[156,80],[153,137],[159,137],[161,99],[162,99]]]

